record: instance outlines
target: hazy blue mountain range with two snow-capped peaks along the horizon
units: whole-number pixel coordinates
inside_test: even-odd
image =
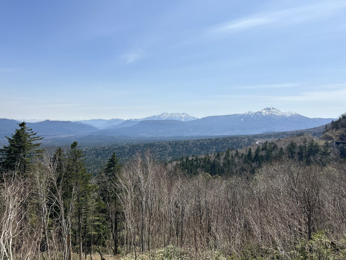
[[[248,135],[264,132],[292,131],[327,124],[333,118],[308,118],[294,112],[266,107],[257,112],[215,115],[201,119],[185,113],[162,113],[142,119],[94,119],[27,123],[38,135],[51,137],[103,138],[105,136],[153,138]],[[0,135],[10,136],[18,121],[0,119]],[[85,138],[84,138],[85,139]]]

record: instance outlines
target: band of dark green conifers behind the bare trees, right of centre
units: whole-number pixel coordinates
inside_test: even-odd
[[[298,148],[298,149],[297,149]],[[175,170],[182,170],[189,175],[206,172],[210,175],[234,175],[255,173],[258,167],[266,162],[280,159],[298,160],[307,164],[315,161],[326,164],[330,160],[329,148],[320,148],[314,140],[304,138],[302,144],[291,141],[285,149],[279,147],[277,142],[265,141],[262,146],[257,146],[255,152],[250,147],[240,152],[227,149],[226,153],[218,152],[215,155],[201,157],[181,157],[175,165]]]

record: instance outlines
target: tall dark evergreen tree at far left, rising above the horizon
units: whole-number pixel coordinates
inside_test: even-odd
[[[36,136],[33,129],[28,128],[25,122],[18,123],[19,129],[11,137],[7,137],[8,145],[0,149],[1,169],[3,171],[17,170],[25,174],[33,158],[38,157],[43,149],[39,149],[41,143],[37,142],[43,137]]]

